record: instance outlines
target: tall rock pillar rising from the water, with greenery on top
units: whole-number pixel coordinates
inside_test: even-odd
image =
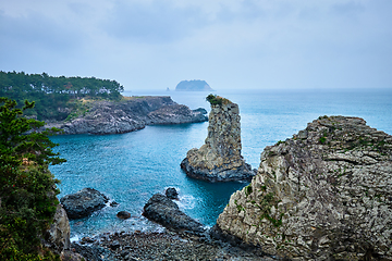
[[[181,162],[185,173],[209,182],[250,181],[256,174],[241,156],[240,110],[228,99],[209,95],[208,137]]]

